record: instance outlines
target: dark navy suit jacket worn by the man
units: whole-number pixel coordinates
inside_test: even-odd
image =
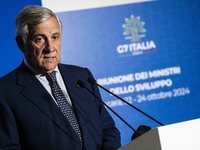
[[[100,150],[120,147],[120,134],[101,103],[77,80],[100,96],[86,68],[59,64],[83,135],[72,131],[52,97],[22,63],[0,79],[0,149]]]

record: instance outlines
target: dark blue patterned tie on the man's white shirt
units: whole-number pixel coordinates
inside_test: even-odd
[[[50,84],[50,87],[52,90],[52,94],[53,94],[55,100],[57,101],[58,106],[60,107],[64,116],[69,121],[69,123],[72,126],[72,128],[74,129],[74,131],[78,134],[80,140],[82,141],[81,131],[80,131],[76,116],[72,110],[72,107],[70,106],[69,102],[67,101],[67,98],[63,94],[63,92],[57,82],[56,72],[54,71],[51,73],[47,73],[46,78],[49,81],[49,84]]]

